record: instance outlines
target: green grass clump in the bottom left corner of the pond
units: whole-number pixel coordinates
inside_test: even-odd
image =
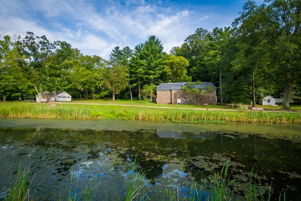
[[[29,168],[21,169],[21,163],[17,170],[17,176],[11,173],[10,176],[10,186],[5,191],[5,201],[25,201],[30,200],[30,184],[31,181],[28,179]]]

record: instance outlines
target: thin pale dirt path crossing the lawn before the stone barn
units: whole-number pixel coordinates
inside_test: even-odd
[[[162,107],[162,106],[137,106],[137,105],[116,105],[116,104],[84,104],[84,103],[63,103],[63,102],[49,102],[53,104],[74,104],[74,105],[97,105],[97,106],[124,106],[124,107],[141,107],[141,108],[164,108],[164,109],[180,109],[180,110],[207,110],[203,108],[171,108],[171,107]],[[211,111],[237,111],[231,109],[208,109]],[[248,112],[252,112],[248,110]],[[264,111],[264,112],[272,112],[272,113],[280,113],[281,111]],[[289,112],[285,112],[289,113]],[[293,112],[292,112],[293,113]]]

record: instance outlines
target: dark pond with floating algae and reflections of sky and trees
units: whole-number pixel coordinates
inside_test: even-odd
[[[162,200],[169,188],[177,189],[184,197],[192,182],[201,182],[221,171],[227,161],[228,174],[239,181],[237,191],[242,196],[254,168],[261,186],[272,186],[271,200],[276,200],[282,189],[287,189],[286,200],[301,200],[299,141],[204,131],[206,126],[201,128],[202,125],[185,125],[193,127],[194,132],[170,131],[160,124],[153,130],[137,126],[139,130],[122,131],[116,126],[117,131],[112,131],[34,125],[29,128],[20,127],[16,120],[8,121],[6,126],[0,124],[0,197],[8,185],[7,172],[14,173],[22,162],[22,167],[30,167],[30,178],[34,177],[34,200],[58,200],[60,196],[65,200],[70,186],[73,193],[80,192],[96,176],[99,187],[92,195],[95,200],[122,200],[136,160],[135,171],[145,172],[144,190],[152,200]],[[51,127],[49,122],[47,127]],[[297,128],[301,127],[293,128],[296,133],[300,131]],[[71,173],[75,178],[72,185]]]

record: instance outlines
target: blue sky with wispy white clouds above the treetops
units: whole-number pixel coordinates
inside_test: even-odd
[[[105,59],[114,46],[133,48],[156,35],[169,52],[197,28],[210,31],[231,26],[245,2],[0,0],[0,34],[31,31],[46,35],[50,41],[67,41],[83,54]]]

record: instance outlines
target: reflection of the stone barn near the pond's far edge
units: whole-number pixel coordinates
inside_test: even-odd
[[[213,140],[218,134],[209,131],[199,134],[193,134],[179,132],[164,132],[162,130],[157,130],[157,135],[159,135],[160,138]]]

